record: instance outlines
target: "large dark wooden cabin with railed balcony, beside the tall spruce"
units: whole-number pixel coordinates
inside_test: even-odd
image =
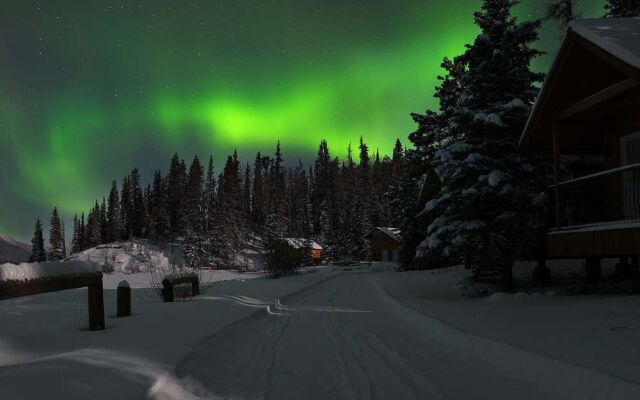
[[[547,258],[637,266],[640,255],[640,18],[582,19],[567,34],[520,139],[553,155]],[[570,158],[590,169],[564,173]]]

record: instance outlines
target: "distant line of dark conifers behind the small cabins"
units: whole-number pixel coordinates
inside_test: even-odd
[[[156,171],[146,185],[134,168],[74,216],[71,253],[140,238],[183,245],[190,267],[220,266],[233,264],[250,240],[295,237],[317,241],[332,259],[366,259],[372,227],[398,221],[392,192],[405,150],[396,140],[392,155],[381,156],[361,137],[356,151],[349,145],[340,159],[323,140],[312,165],[292,166],[278,142],[273,155],[257,153],[253,163],[241,165],[234,152],[219,174],[213,156],[187,167],[176,153],[168,173]]]

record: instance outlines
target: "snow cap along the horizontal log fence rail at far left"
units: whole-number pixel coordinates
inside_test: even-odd
[[[100,266],[90,261],[48,261],[0,265],[0,282],[28,281],[57,276],[99,273]]]

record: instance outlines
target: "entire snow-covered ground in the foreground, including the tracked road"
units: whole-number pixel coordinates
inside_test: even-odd
[[[134,284],[121,319],[108,289],[97,332],[84,290],[2,301],[0,398],[640,398],[640,298],[468,298],[458,267],[388,271],[237,274],[166,304]]]

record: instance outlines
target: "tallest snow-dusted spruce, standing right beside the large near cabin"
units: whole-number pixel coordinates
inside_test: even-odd
[[[517,147],[542,80],[529,68],[540,23],[516,21],[515,4],[485,0],[474,14],[481,33],[458,59],[465,72],[433,163],[442,187],[426,207],[436,217],[419,246],[476,271],[499,270],[507,290],[514,259],[545,221],[535,166]]]

